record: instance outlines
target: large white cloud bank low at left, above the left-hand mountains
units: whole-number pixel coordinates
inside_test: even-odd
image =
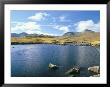
[[[28,34],[44,34],[57,36],[56,34],[44,32],[41,28],[42,26],[53,27],[54,25],[38,25],[36,22],[11,22],[11,32],[12,33],[22,33],[26,32]]]

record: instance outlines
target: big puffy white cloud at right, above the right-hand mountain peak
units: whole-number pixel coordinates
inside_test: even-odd
[[[75,23],[74,26],[77,32],[82,32],[85,29],[93,30],[96,32],[99,32],[100,30],[100,23],[94,23],[93,20],[79,21]]]

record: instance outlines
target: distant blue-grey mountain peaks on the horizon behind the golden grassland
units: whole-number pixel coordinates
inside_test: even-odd
[[[80,36],[81,34],[90,34],[90,33],[96,33],[96,32],[92,31],[92,30],[86,29],[83,32],[67,32],[67,33],[64,33],[62,36]],[[36,36],[49,36],[49,35],[44,35],[44,34],[28,34],[26,32],[22,32],[22,33],[19,33],[19,34],[11,33],[11,37],[26,37],[26,36],[36,37]]]

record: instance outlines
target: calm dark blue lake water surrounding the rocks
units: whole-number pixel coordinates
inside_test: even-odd
[[[49,70],[49,63],[59,65]],[[74,65],[81,67],[80,77],[91,74],[87,68],[100,65],[100,49],[91,46],[30,44],[12,45],[11,76],[15,77],[62,77]]]

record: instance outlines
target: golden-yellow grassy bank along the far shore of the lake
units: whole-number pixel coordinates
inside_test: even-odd
[[[74,44],[100,46],[100,41],[98,37],[12,37],[11,44]]]

